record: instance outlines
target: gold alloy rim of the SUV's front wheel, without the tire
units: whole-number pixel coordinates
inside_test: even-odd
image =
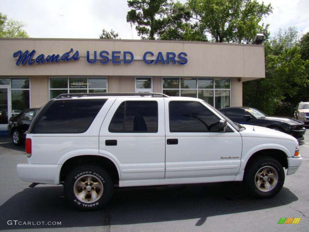
[[[277,183],[277,170],[271,166],[264,166],[255,174],[255,185],[262,192],[269,192],[273,190]]]

